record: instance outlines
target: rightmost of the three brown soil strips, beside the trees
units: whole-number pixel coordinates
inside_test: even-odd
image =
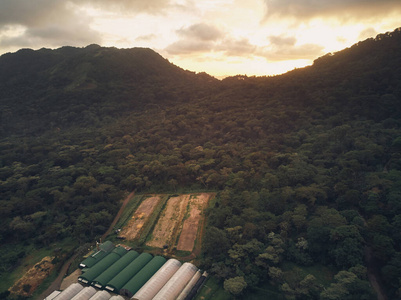
[[[207,206],[211,194],[202,193],[194,196],[189,201],[189,217],[184,221],[177,250],[192,251],[198,233],[202,212]]]

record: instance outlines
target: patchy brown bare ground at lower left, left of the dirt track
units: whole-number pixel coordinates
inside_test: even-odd
[[[53,270],[52,257],[46,256],[29,269],[10,289],[10,293],[29,297]]]

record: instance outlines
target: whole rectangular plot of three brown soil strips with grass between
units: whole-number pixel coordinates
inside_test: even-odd
[[[126,212],[119,238],[137,244],[143,241],[149,248],[167,248],[170,253],[173,250],[192,252],[203,232],[203,211],[213,196],[200,193],[134,198],[132,201],[136,204]]]

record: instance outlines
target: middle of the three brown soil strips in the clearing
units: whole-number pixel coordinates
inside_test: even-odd
[[[189,198],[190,195],[181,195],[171,197],[167,201],[166,208],[153,230],[152,239],[146,245],[162,248],[174,243],[174,236],[177,236],[178,226],[184,219]]]

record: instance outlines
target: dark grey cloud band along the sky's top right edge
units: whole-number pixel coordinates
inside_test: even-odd
[[[320,16],[370,19],[401,10],[400,0],[264,0],[267,17],[309,19]]]

